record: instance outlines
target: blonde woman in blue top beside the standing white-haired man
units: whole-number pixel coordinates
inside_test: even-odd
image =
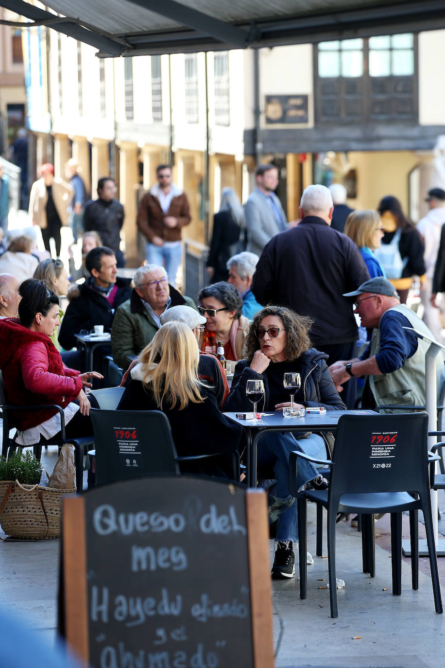
[[[346,220],[344,234],[349,236],[360,248],[370,277],[372,279],[376,276],[386,278],[385,270],[374,255],[376,248],[380,248],[384,235],[382,220],[378,212],[372,210],[353,211]]]

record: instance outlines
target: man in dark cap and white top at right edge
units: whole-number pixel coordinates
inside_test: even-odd
[[[428,202],[430,210],[424,216],[420,218],[418,224],[416,225],[416,230],[422,238],[424,244],[424,261],[425,261],[425,273],[426,281],[422,283],[422,290],[420,291],[420,301],[424,305],[424,322],[427,327],[430,328],[437,341],[444,343],[445,339],[441,337],[441,330],[444,328],[444,311],[445,303],[440,304],[440,308],[436,308],[436,294],[434,294],[434,299],[431,300],[433,293],[433,277],[434,269],[436,267],[436,259],[438,259],[438,253],[440,249],[440,236],[442,232],[442,226],[445,223],[445,190],[442,188],[431,188],[428,190],[428,196],[425,198],[425,201]],[[442,251],[440,252],[440,261],[438,263],[438,273],[442,273],[443,264],[445,262],[444,257],[445,248],[442,243]],[[440,270],[440,271],[439,271]],[[442,292],[434,291],[437,292]],[[442,298],[442,302],[445,301]]]

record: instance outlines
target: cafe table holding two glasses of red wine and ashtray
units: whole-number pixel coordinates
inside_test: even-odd
[[[236,411],[242,412],[242,411]],[[301,418],[284,418],[282,411],[275,413],[262,413],[261,420],[241,420],[235,413],[224,413],[227,418],[238,422],[243,428],[247,438],[246,448],[246,476],[248,487],[256,487],[256,462],[258,439],[264,432],[323,432],[334,431],[338,420],[342,415],[375,415],[372,410],[344,410],[326,411],[322,415],[306,413]]]

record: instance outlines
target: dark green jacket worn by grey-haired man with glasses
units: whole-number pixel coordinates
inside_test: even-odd
[[[173,286],[169,285],[172,306],[185,305],[196,310],[193,299],[183,297]],[[153,316],[145,309],[141,298],[133,288],[131,297],[117,309],[113,327],[111,327],[111,351],[113,360],[121,369],[127,369],[127,357],[139,355],[159,327]]]

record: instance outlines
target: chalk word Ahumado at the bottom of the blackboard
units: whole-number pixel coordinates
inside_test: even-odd
[[[183,651],[133,653],[125,649],[125,643],[118,643],[117,649],[104,647],[100,656],[100,668],[217,668],[218,665],[217,655],[206,652],[202,643],[198,643],[191,655]]]

